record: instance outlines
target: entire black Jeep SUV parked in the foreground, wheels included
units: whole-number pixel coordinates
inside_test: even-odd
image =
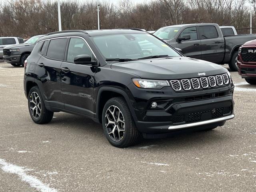
[[[135,29],[47,34],[25,62],[24,90],[32,120],[54,112],[102,123],[116,147],[183,130],[209,130],[234,118],[226,68],[183,56]]]

